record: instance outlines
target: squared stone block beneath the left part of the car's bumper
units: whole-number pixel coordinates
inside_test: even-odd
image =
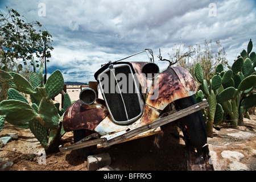
[[[88,171],[95,171],[99,168],[109,166],[110,163],[111,163],[111,158],[108,153],[90,155],[87,158]]]

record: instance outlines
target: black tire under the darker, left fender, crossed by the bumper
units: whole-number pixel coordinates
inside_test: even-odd
[[[88,135],[92,134],[92,131],[89,130],[75,130],[73,131],[73,139],[74,142],[78,142],[79,140],[87,137]],[[83,157],[87,157],[89,155],[93,155],[94,153],[89,149],[89,147],[79,148],[76,150],[77,154]]]

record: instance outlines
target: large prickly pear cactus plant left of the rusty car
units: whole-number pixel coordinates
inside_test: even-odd
[[[34,60],[33,60],[34,62]],[[35,63],[35,62],[34,62]],[[56,148],[57,142],[65,134],[62,121],[64,109],[71,105],[68,94],[65,94],[64,109],[53,103],[53,97],[57,96],[64,87],[64,79],[59,70],[49,76],[46,84],[43,84],[43,63],[41,62],[39,73],[30,73],[29,81],[19,73],[0,71],[0,77],[9,81],[9,100],[0,102],[0,130],[7,121],[21,128],[30,128],[31,132],[39,140],[47,151]],[[30,94],[32,105],[20,94]]]

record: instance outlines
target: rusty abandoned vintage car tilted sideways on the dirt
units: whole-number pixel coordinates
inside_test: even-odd
[[[126,60],[144,52],[148,61]],[[110,147],[162,133],[168,125],[177,123],[186,145],[197,148],[196,155],[200,155],[194,157],[192,151],[188,158],[203,159],[200,167],[208,163],[207,130],[200,111],[208,103],[204,100],[197,104],[193,97],[197,85],[186,69],[172,67],[160,73],[151,49],[145,49],[109,61],[94,77],[99,89],[81,90],[80,100],[64,114],[63,127],[73,131],[74,144],[60,146],[61,152],[77,150],[90,155],[90,146]],[[103,99],[98,98],[100,94]]]

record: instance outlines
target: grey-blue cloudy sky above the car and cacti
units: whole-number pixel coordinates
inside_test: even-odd
[[[180,40],[186,47],[220,40],[230,64],[250,39],[256,45],[255,0],[0,0],[3,13],[5,6],[47,28],[54,47],[47,74],[60,69],[65,81],[94,81],[101,64],[145,48],[162,69],[159,48],[168,59]]]

